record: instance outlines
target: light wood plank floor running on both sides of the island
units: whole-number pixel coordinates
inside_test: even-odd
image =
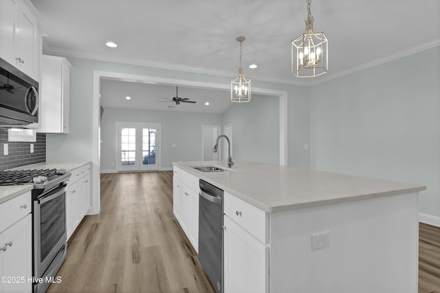
[[[72,235],[47,292],[214,292],[172,201],[171,171],[101,175],[101,213]],[[440,293],[440,228],[419,227],[419,293]]]

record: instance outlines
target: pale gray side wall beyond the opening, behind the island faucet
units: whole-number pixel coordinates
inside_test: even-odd
[[[245,103],[232,103],[223,113],[223,125],[233,125],[233,159],[279,164],[279,98],[252,95]]]

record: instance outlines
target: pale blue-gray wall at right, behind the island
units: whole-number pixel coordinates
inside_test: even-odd
[[[425,184],[440,216],[440,47],[311,88],[314,169]]]

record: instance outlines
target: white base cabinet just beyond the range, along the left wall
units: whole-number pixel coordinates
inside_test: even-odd
[[[90,164],[72,171],[66,193],[67,240],[90,208]]]

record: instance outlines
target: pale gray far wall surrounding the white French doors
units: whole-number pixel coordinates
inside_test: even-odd
[[[160,124],[161,169],[172,162],[201,160],[201,125],[220,124],[219,114],[104,108],[101,120],[101,171],[115,171],[116,122]],[[172,144],[176,144],[173,147]]]

